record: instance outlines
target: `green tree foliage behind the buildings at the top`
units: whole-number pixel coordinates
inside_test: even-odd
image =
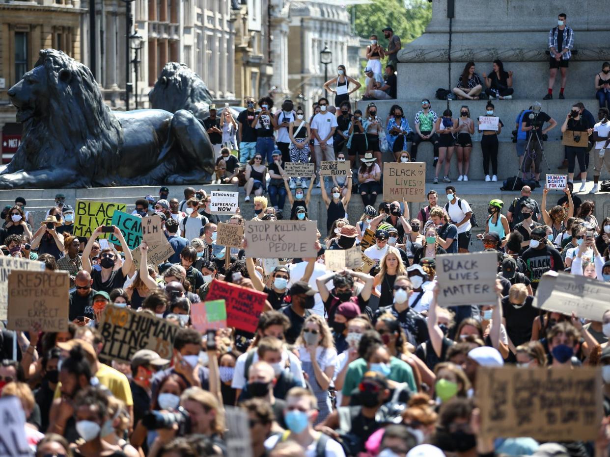
[[[378,37],[379,44],[387,48],[382,29],[392,27],[401,43],[409,43],[423,34],[432,18],[432,4],[428,0],[373,0],[370,4],[350,6],[355,9],[354,28],[361,38],[371,34]]]

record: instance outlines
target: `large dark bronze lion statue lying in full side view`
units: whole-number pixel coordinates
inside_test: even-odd
[[[200,183],[214,169],[206,130],[185,110],[113,112],[91,71],[43,49],[9,90],[21,146],[0,166],[0,188]]]

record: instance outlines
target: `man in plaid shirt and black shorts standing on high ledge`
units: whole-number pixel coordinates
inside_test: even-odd
[[[570,57],[572,57],[572,49],[574,48],[574,30],[565,25],[567,16],[565,13],[559,13],[557,27],[553,27],[548,32],[548,49],[550,50],[549,60],[549,76],[548,76],[548,94],[544,100],[553,99],[553,85],[555,84],[555,76],[557,69],[561,68],[561,89],[559,90],[559,99],[563,100],[565,81],[568,76],[568,65]]]

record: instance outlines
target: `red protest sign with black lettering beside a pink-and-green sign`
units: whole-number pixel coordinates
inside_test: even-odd
[[[254,333],[259,324],[259,316],[265,306],[267,294],[214,279],[210,284],[206,299],[224,299],[226,325]]]

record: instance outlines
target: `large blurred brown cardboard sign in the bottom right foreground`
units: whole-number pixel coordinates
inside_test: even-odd
[[[603,414],[599,367],[577,370],[479,367],[476,397],[481,435],[538,441],[590,441]]]

